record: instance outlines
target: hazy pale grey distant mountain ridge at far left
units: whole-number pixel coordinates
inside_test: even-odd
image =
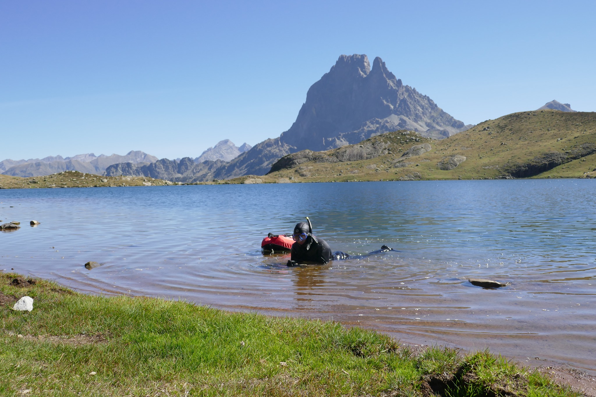
[[[18,160],[14,164],[13,160],[4,160],[1,163],[10,165],[2,172],[5,175],[33,177],[55,174],[63,171],[79,171],[88,174],[101,175],[105,168],[119,162],[131,162],[133,164],[150,164],[157,161],[157,157],[146,154],[142,151],[130,151],[126,155],[113,154],[106,156],[104,154],[95,156],[94,154],[79,154],[73,157],[63,158],[62,156],[48,156],[41,160]]]

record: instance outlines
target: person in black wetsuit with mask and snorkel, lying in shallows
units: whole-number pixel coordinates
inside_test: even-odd
[[[331,248],[323,239],[312,235],[311,220],[306,217],[306,222],[299,222],[294,227],[292,239],[291,257],[288,266],[294,266],[303,262],[315,262],[325,264],[333,259],[346,259],[349,255],[341,251],[331,252]]]

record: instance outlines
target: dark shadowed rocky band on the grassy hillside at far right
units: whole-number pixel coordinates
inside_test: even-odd
[[[504,176],[510,175],[515,178],[527,178],[538,175],[544,171],[551,170],[558,165],[565,164],[572,160],[585,157],[592,153],[596,153],[595,143],[583,143],[578,148],[574,148],[567,152],[551,151],[541,155],[538,155],[532,160],[516,163],[516,164],[505,164],[502,167]]]

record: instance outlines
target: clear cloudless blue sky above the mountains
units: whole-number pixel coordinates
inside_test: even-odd
[[[596,111],[594,1],[0,2],[0,160],[280,136],[341,54],[464,121]]]

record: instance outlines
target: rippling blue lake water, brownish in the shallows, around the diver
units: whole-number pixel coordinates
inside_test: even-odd
[[[0,233],[0,270],[596,371],[594,180],[15,189],[0,202],[2,223],[22,226]],[[260,252],[306,215],[333,251],[400,252],[293,268]]]

